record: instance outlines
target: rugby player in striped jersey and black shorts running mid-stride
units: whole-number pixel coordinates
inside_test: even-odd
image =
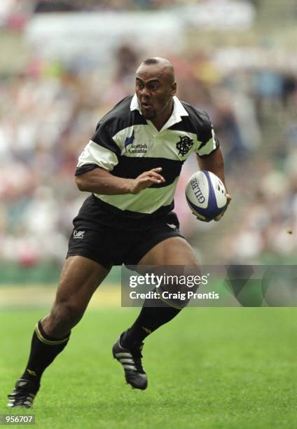
[[[209,116],[179,101],[176,92],[172,64],[148,58],[136,71],[134,96],[99,121],[79,156],[76,184],[91,194],[74,219],[55,302],[36,324],[25,372],[8,395],[8,407],[32,407],[44,370],[67,346],[71,329],[113,265],[198,266],[172,212],[174,191],[181,166],[193,153],[200,169],[225,182],[223,155]],[[141,365],[143,341],[181,311],[152,304],[144,301],[112,349],[127,383],[142,390],[148,383]]]

